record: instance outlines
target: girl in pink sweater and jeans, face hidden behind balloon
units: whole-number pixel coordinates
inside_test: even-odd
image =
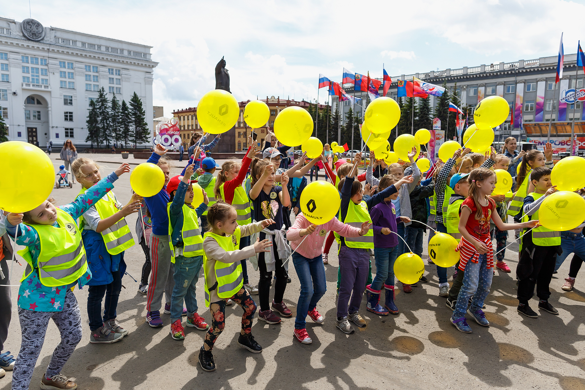
[[[298,297],[297,318],[294,323],[294,336],[301,343],[312,343],[306,329],[307,314],[318,324],[324,322],[323,316],[319,314],[316,306],[327,290],[325,267],[321,256],[325,236],[329,231],[332,231],[343,237],[357,237],[366,234],[367,230],[367,221],[362,225],[362,229],[357,229],[357,227],[340,222],[337,218],[333,218],[323,225],[313,225],[302,213],[297,216],[294,224],[288,229],[287,240],[290,241],[291,249],[295,250],[295,253],[292,254],[292,264],[294,264],[297,276],[301,281],[301,295]],[[307,235],[309,237],[305,237]],[[303,239],[305,240],[301,245]]]

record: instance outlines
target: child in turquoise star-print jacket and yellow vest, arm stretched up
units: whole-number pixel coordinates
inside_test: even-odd
[[[61,342],[43,374],[41,386],[47,389],[77,388],[77,384],[61,374],[75,346],[81,341],[81,314],[71,288],[75,285],[81,288],[91,279],[80,229],[75,220],[111,191],[112,183],[120,175],[129,171],[129,164],[122,164],[94,184],[93,191],[87,191],[59,208],[49,198],[35,209],[6,216],[6,230],[17,244],[26,247],[19,254],[27,263],[18,292],[22,343],[12,374],[12,389],[29,388],[50,319],[59,329]],[[51,259],[58,261],[63,257],[68,258],[67,263],[46,268]]]

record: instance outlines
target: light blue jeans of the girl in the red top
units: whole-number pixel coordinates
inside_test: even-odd
[[[460,270],[459,272],[462,271]],[[457,295],[457,305],[453,312],[453,318],[465,316],[467,303],[469,303],[469,297],[472,295],[472,312],[481,310],[483,301],[490,294],[491,278],[493,276],[494,271],[491,268],[487,268],[486,254],[480,254],[477,263],[473,263],[471,260],[467,261],[463,276],[463,285],[459,291],[459,295]]]

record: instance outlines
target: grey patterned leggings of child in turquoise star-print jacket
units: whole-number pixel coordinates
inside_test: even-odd
[[[36,361],[43,347],[49,320],[53,319],[61,333],[61,342],[53,351],[46,371],[47,377],[53,377],[61,372],[75,347],[81,341],[81,315],[77,299],[68,289],[63,303],[63,311],[33,312],[19,308],[18,318],[20,329],[22,329],[22,343],[12,372],[12,390],[26,390],[29,388],[30,378],[33,376]]]

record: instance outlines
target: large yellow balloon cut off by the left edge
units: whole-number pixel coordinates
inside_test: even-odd
[[[0,209],[8,212],[30,211],[46,201],[53,191],[53,163],[33,144],[22,141],[0,143],[0,172]]]

